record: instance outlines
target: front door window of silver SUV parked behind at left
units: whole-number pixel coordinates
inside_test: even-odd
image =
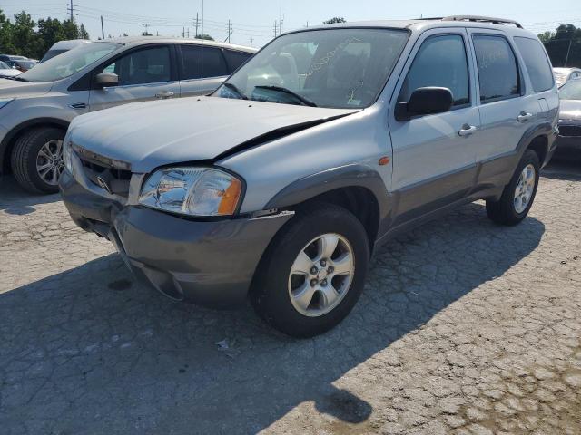
[[[168,47],[154,47],[129,53],[103,71],[119,76],[119,85],[170,82],[172,62]]]

